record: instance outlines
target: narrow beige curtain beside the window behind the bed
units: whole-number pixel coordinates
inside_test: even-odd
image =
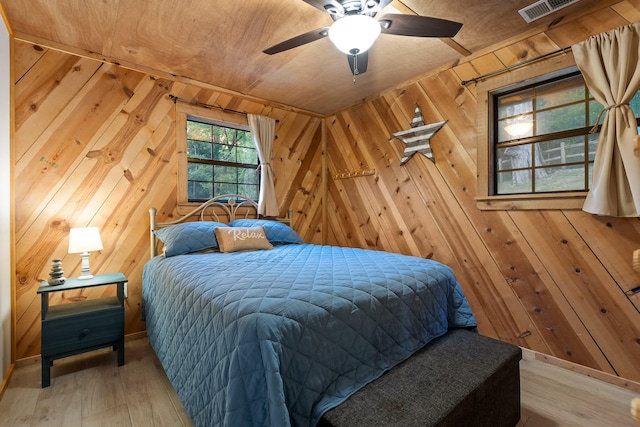
[[[275,138],[276,121],[269,117],[256,116],[254,114],[247,114],[247,118],[260,159],[258,213],[264,216],[277,216],[279,213],[278,201],[276,200],[273,170],[271,169],[271,151]]]

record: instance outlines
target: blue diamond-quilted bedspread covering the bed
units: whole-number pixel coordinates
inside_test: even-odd
[[[475,319],[451,269],[284,245],[150,260],[147,334],[197,426],[314,426],[448,328]]]

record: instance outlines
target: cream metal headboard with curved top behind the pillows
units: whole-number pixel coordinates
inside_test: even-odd
[[[171,225],[187,221],[217,221],[229,223],[240,218],[261,218],[258,213],[258,204],[255,200],[239,194],[223,194],[207,200],[197,208],[175,221],[158,222],[156,220],[156,208],[149,209],[149,244],[151,258],[158,255],[158,239],[154,230],[159,230]],[[263,217],[283,222],[289,226],[292,224],[293,209],[287,211],[286,217]]]

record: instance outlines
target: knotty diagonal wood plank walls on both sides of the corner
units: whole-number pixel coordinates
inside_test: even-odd
[[[625,293],[640,285],[631,268],[640,221],[478,210],[476,93],[461,85],[639,19],[640,2],[610,2],[325,119],[16,42],[17,359],[39,354],[36,289],[51,259],[62,258],[69,276],[79,272],[79,256],[66,253],[70,227],[100,227],[105,249],[91,254],[92,270],[129,277],[126,331],[144,330],[147,211],[158,208],[161,220],[176,215],[173,94],[279,120],[278,200],[281,213],[294,209],[294,228],[307,242],[444,262],[481,333],[640,381],[640,294]],[[416,103],[427,122],[448,122],[432,139],[435,164],[417,155],[401,167],[404,146],[391,135],[408,128]],[[360,169],[376,173],[334,179]]]

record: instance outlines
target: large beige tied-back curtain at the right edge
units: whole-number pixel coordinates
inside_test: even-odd
[[[573,45],[576,64],[596,101],[605,106],[583,210],[598,215],[640,213],[638,129],[629,101],[640,88],[640,23],[617,28]]]

